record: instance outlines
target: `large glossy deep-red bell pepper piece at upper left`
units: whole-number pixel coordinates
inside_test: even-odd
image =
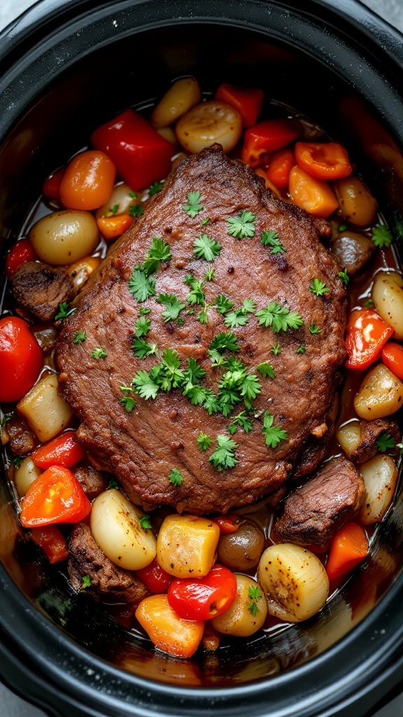
[[[125,110],[98,127],[91,135],[91,142],[110,157],[134,191],[163,179],[171,168],[171,143],[133,110]]]

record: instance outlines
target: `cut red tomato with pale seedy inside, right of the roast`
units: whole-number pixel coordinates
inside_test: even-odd
[[[394,328],[373,309],[351,311],[347,324],[347,369],[366,369],[379,359],[382,346],[394,333]]]

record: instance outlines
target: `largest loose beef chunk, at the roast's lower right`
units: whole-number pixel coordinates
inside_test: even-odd
[[[346,458],[332,458],[284,501],[275,532],[283,541],[325,547],[365,499],[364,480]]]

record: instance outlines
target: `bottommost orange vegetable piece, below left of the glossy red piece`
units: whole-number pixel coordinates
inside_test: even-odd
[[[144,598],[136,617],[158,650],[175,657],[191,657],[203,637],[202,620],[183,620],[171,608],[166,595]]]

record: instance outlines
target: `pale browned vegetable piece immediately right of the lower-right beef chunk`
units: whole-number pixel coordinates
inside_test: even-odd
[[[360,466],[366,488],[366,500],[359,519],[364,526],[380,523],[392,503],[398,471],[389,455],[376,455]]]

